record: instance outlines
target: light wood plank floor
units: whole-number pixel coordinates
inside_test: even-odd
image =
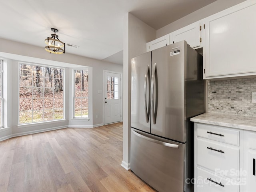
[[[155,192],[122,162],[122,123],[0,142],[0,192]]]

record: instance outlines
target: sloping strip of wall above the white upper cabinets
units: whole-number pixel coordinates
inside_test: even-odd
[[[199,10],[196,10],[195,12],[188,14],[187,16],[184,16],[183,18],[180,18],[179,20],[176,20],[175,22],[172,22],[158,29],[156,31],[156,38],[162,37],[166,34],[169,34],[184,26],[192,24],[215,13],[218,13],[243,1],[244,0],[217,0]]]

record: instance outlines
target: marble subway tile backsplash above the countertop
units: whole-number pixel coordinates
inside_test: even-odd
[[[208,112],[256,116],[256,78],[208,82]]]

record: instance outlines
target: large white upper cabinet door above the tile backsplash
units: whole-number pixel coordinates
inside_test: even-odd
[[[246,1],[208,18],[206,78],[256,74],[256,1]]]

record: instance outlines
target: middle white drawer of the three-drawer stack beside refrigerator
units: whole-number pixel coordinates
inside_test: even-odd
[[[212,172],[238,180],[239,149],[197,139],[197,164]]]

